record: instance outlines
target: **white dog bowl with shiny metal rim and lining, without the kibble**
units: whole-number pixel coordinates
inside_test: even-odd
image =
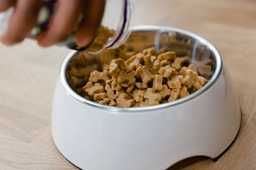
[[[148,107],[101,105],[77,95],[68,84],[72,51],[63,62],[52,110],[54,142],[72,164],[88,170],[167,169],[191,156],[216,161],[240,127],[240,108],[230,75],[218,50],[193,33],[167,27],[134,28],[127,47],[161,47],[211,65],[210,81],[174,102]]]

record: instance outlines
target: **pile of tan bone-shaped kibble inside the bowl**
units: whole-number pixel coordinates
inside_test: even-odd
[[[88,54],[75,58],[70,81],[76,92],[103,105],[144,107],[186,97],[208,82],[189,57],[154,47],[137,54],[125,48],[104,50],[98,64]]]

